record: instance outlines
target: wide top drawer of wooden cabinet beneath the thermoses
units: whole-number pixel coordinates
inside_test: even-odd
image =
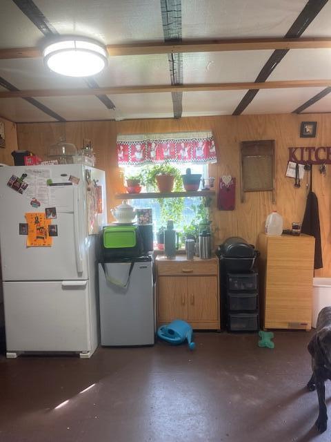
[[[217,275],[217,261],[158,262],[159,275]]]

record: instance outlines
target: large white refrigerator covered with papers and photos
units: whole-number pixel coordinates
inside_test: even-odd
[[[26,233],[35,227],[29,229],[27,220],[33,216],[54,224],[44,229],[50,245],[29,242]],[[8,358],[22,352],[93,354],[99,329],[97,233],[106,222],[104,171],[81,164],[0,167]]]

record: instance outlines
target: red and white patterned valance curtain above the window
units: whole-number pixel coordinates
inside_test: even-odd
[[[119,166],[217,162],[212,132],[118,135],[117,159]]]

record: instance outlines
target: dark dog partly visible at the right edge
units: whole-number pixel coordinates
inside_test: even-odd
[[[312,377],[307,387],[310,392],[317,390],[319,417],[315,425],[317,430],[323,433],[328,421],[324,383],[331,379],[331,307],[325,307],[319,312],[316,334],[308,344],[308,352],[312,355]]]

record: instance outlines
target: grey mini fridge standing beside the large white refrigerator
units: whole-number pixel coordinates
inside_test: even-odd
[[[152,258],[99,264],[101,345],[154,345]]]

